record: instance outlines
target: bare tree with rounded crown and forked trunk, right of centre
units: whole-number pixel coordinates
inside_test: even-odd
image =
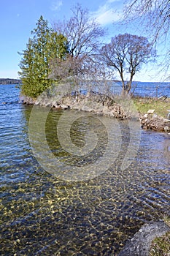
[[[152,56],[152,45],[146,37],[138,37],[132,34],[119,34],[112,37],[109,44],[101,48],[101,61],[117,70],[120,75],[123,92],[131,92],[131,83],[136,72],[139,72],[142,64]],[[129,80],[125,83],[125,75]]]

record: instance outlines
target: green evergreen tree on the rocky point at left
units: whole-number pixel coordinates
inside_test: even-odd
[[[31,35],[26,50],[20,53],[23,58],[18,74],[22,81],[21,93],[36,98],[53,83],[49,78],[50,61],[64,59],[68,46],[66,37],[50,29],[42,16]]]

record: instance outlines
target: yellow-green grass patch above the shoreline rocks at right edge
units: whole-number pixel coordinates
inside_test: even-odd
[[[147,113],[150,109],[155,109],[155,114],[167,118],[167,110],[170,110],[170,98],[163,99],[134,99],[134,104],[140,113]]]

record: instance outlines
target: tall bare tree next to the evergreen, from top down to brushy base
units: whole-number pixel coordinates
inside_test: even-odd
[[[80,83],[82,79],[96,79],[101,75],[96,56],[101,48],[101,38],[106,34],[105,29],[90,18],[88,10],[77,4],[72,9],[72,17],[63,22],[53,24],[55,31],[63,34],[69,44],[69,54],[65,61],[52,61],[53,78],[72,80]]]

